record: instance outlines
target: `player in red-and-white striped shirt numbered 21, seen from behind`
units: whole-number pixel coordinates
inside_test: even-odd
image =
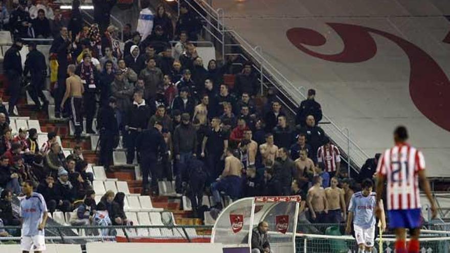
[[[431,194],[430,182],[425,175],[425,159],[422,152],[407,143],[408,131],[399,126],[394,131],[395,146],[386,150],[378,161],[376,198],[381,199],[387,182],[386,204],[388,206],[389,228],[395,229],[397,253],[418,253],[421,210],[419,181],[430,201],[433,218],[436,204]],[[376,211],[380,217],[380,210]],[[411,240],[406,245],[406,228]]]

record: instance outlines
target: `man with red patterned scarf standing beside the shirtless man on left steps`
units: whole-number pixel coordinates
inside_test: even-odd
[[[98,91],[99,76],[97,68],[91,62],[91,55],[83,55],[83,62],[78,65],[75,74],[81,78],[84,84],[83,114],[86,117],[86,133],[95,133],[92,130],[92,122],[97,108],[95,95]]]

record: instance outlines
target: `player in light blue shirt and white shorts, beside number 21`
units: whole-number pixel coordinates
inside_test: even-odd
[[[373,182],[371,179],[365,179],[362,183],[362,191],[352,195],[350,205],[348,206],[348,219],[346,233],[351,233],[351,223],[355,232],[356,243],[358,244],[358,253],[372,252],[375,240],[375,208],[376,198],[372,192]],[[383,209],[382,205],[381,209]],[[381,220],[382,227],[386,222]]]

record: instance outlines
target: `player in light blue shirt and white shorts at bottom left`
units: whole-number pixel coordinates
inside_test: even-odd
[[[33,249],[35,253],[46,250],[44,227],[47,223],[47,205],[41,194],[33,192],[33,182],[27,180],[22,185],[25,198],[20,200],[22,229],[20,247],[22,253]]]

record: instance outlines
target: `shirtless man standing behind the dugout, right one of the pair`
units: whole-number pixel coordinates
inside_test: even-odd
[[[345,220],[345,197],[344,190],[338,187],[338,178],[331,178],[330,187],[325,189],[328,202],[328,215],[326,223],[341,223]]]

